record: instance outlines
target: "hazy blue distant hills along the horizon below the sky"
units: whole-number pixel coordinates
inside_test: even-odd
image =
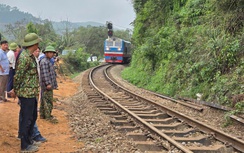
[[[20,11],[17,7],[10,7],[5,4],[0,4],[0,29],[4,29],[4,25],[6,24],[13,24],[17,21],[22,21],[24,20],[25,23],[29,23],[30,21],[33,23],[40,23],[44,19],[40,19],[37,17],[34,17],[32,14],[28,12],[22,12]],[[57,32],[60,32],[60,29],[65,29],[65,25],[67,24],[68,21],[60,21],[60,22],[54,22],[51,21],[53,24],[54,29]],[[87,26],[104,26],[102,23],[98,22],[68,22],[69,26],[72,29],[78,28],[80,26],[87,27]]]

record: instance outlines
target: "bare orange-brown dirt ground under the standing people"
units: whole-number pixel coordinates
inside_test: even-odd
[[[69,128],[67,113],[62,109],[65,105],[62,100],[74,95],[79,86],[71,79],[57,78],[58,90],[54,90],[53,115],[57,117],[58,123],[52,124],[39,118],[37,125],[41,134],[48,140],[39,147],[39,153],[61,153],[75,152],[83,146],[73,137]],[[15,153],[20,151],[20,140],[18,134],[19,106],[18,100],[9,98],[10,102],[0,103],[0,153]]]

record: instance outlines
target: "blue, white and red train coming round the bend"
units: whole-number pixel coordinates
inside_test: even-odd
[[[124,63],[131,60],[131,43],[120,38],[108,38],[104,41],[106,63]]]

